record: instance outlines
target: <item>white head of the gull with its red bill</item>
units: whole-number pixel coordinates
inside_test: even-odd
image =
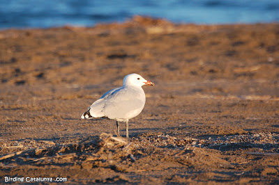
[[[123,79],[123,86],[137,86],[137,87],[141,87],[144,85],[149,85],[149,86],[154,86],[155,84],[151,81],[148,81],[144,78],[142,78],[142,76],[140,76],[140,74],[128,74],[124,79]]]

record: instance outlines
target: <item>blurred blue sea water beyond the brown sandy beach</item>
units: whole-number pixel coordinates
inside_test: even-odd
[[[134,15],[194,24],[279,22],[279,0],[0,0],[0,29],[94,26]]]

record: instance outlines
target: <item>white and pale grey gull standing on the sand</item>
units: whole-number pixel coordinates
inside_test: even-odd
[[[107,91],[100,99],[93,102],[82,119],[109,118],[116,120],[117,136],[119,122],[126,122],[126,138],[129,138],[128,121],[142,112],[145,104],[145,94],[142,86],[155,84],[147,81],[140,74],[128,74],[123,79],[123,86]]]

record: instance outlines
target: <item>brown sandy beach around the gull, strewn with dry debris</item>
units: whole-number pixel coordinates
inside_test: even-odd
[[[127,143],[80,115],[133,72],[156,86]],[[279,24],[10,29],[0,79],[2,183],[279,184]]]

